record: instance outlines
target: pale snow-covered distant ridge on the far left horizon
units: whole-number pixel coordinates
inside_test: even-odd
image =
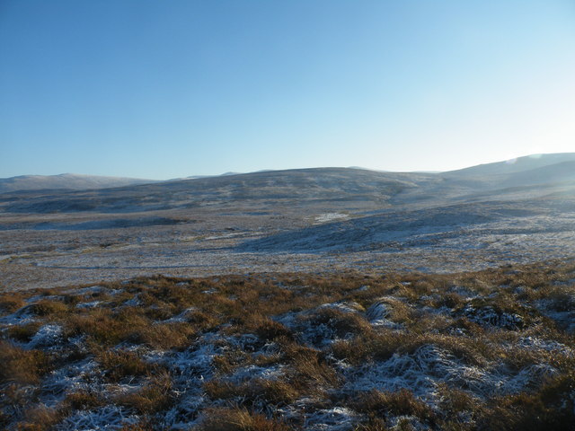
[[[108,189],[152,182],[156,181],[136,178],[82,175],[77,173],[62,173],[59,175],[21,175],[18,177],[0,179],[0,193],[21,190]]]

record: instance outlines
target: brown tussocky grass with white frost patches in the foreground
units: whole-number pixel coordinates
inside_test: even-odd
[[[0,296],[0,427],[571,429],[575,268]]]

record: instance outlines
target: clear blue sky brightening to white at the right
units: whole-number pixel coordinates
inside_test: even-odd
[[[561,152],[573,0],[0,0],[0,177]]]

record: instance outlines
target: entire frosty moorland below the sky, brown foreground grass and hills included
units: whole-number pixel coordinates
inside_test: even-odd
[[[575,423],[575,154],[0,180],[0,427]]]

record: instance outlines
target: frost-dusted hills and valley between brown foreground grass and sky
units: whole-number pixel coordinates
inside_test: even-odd
[[[562,259],[575,255],[572,157],[464,172],[314,168],[7,192],[0,283],[388,266],[449,272]]]

